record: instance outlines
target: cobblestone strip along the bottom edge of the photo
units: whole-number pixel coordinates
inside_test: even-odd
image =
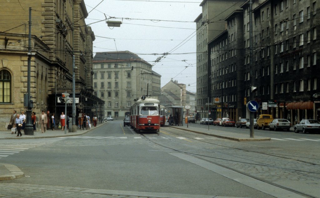
[[[76,188],[63,186],[46,186],[31,184],[0,183],[0,197],[25,197],[25,198],[212,198],[214,195],[189,195],[169,194],[135,191],[116,191],[91,188]],[[142,195],[142,196],[140,196]],[[145,196],[146,195],[146,196]],[[221,196],[219,196],[221,197]]]

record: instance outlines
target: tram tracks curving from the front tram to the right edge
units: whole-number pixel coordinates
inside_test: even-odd
[[[175,129],[175,131],[177,131]],[[183,131],[183,130],[181,130]],[[205,141],[205,139],[195,139],[194,137],[189,137],[188,135],[181,135],[180,133],[177,133],[177,132],[173,132],[171,131],[170,129],[161,129],[160,130],[160,133],[164,133],[166,135],[169,135],[169,136],[172,136],[172,137],[176,137],[176,136],[179,136],[179,137],[185,137],[186,139],[192,139],[194,141],[199,141],[199,142],[202,142],[202,143],[206,143],[206,144],[209,144],[209,145],[215,145],[215,146],[218,146],[218,147],[226,147],[226,148],[230,148],[230,149],[237,149],[239,151],[244,151],[244,152],[252,152],[252,153],[255,153],[255,154],[265,154],[265,155],[269,155],[269,156],[272,156],[272,157],[277,157],[277,158],[280,158],[280,159],[284,159],[284,160],[293,160],[293,161],[296,161],[297,165],[299,165],[299,163],[305,163],[307,165],[314,165],[314,166],[319,166],[319,164],[317,163],[313,163],[313,162],[307,162],[307,161],[303,161],[303,160],[297,160],[297,159],[294,159],[294,158],[289,158],[289,157],[284,157],[284,156],[279,156],[277,154],[270,154],[270,153],[264,153],[264,152],[259,152],[259,151],[252,151],[252,150],[248,150],[248,149],[243,149],[243,148],[237,148],[237,147],[232,147],[232,146],[226,146],[226,145],[221,145],[221,144],[217,144],[217,143],[212,143],[212,142],[209,142],[209,141]],[[185,133],[185,131],[183,131]],[[173,135],[172,135],[173,134]],[[268,179],[265,179],[265,178],[261,178],[261,177],[257,177],[255,175],[252,175],[250,174],[250,172],[248,173],[248,171],[244,172],[242,170],[237,170],[236,168],[233,168],[233,167],[230,167],[228,165],[224,165],[222,163],[218,163],[218,162],[214,162],[213,160],[210,160],[210,159],[217,159],[217,160],[226,160],[228,162],[236,162],[236,163],[244,163],[246,165],[252,165],[252,166],[264,166],[264,167],[270,167],[272,169],[279,169],[279,170],[282,170],[282,171],[286,171],[286,172],[291,172],[293,174],[299,174],[299,175],[303,175],[307,178],[310,178],[310,179],[314,179],[314,180],[319,180],[320,177],[318,176],[311,176],[309,174],[313,174],[313,175],[319,175],[320,173],[319,172],[312,172],[312,171],[307,171],[307,170],[297,170],[297,169],[291,169],[291,168],[284,168],[284,167],[279,167],[279,166],[275,166],[275,165],[270,165],[270,164],[267,164],[267,163],[262,163],[262,162],[257,162],[257,161],[254,161],[254,160],[250,160],[250,159],[246,159],[245,157],[247,156],[244,156],[244,155],[234,155],[234,154],[230,154],[230,153],[226,153],[226,152],[220,152],[220,151],[216,151],[216,150],[211,150],[211,149],[207,149],[207,148],[203,148],[203,147],[197,147],[197,146],[194,146],[194,145],[190,145],[188,144],[187,142],[181,142],[181,141],[177,141],[175,139],[170,139],[171,141],[174,141],[175,143],[179,143],[179,144],[183,144],[183,145],[186,145],[188,147],[193,147],[193,148],[196,148],[196,149],[200,149],[200,150],[203,150],[203,151],[206,151],[206,152],[210,152],[210,153],[219,153],[219,154],[223,154],[223,155],[229,155],[231,157],[236,157],[236,158],[240,158],[240,159],[243,159],[244,161],[237,161],[237,160],[230,160],[230,159],[223,159],[223,158],[219,158],[219,157],[213,157],[213,156],[207,156],[207,155],[203,155],[203,154],[197,154],[195,152],[187,152],[187,151],[182,151],[182,150],[179,150],[177,148],[174,148],[172,146],[166,146],[164,145],[163,143],[161,142],[158,142],[154,139],[150,139],[150,137],[148,137],[147,135],[145,134],[141,134],[143,137],[145,137],[146,139],[148,139],[148,141],[152,142],[153,144],[156,144],[158,146],[161,146],[161,147],[165,147],[167,149],[171,149],[175,152],[178,152],[178,153],[182,153],[182,154],[185,154],[185,155],[189,155],[189,156],[192,156],[192,157],[195,157],[199,160],[204,160],[205,162],[209,162],[211,164],[214,164],[214,165],[218,165],[220,167],[223,167],[223,168],[226,168],[228,170],[233,170],[237,173],[240,173],[240,174],[243,174],[243,175],[246,175],[250,178],[254,178],[254,179],[257,179],[259,181],[262,181],[262,182],[266,182],[270,185],[273,185],[273,186],[276,186],[276,187],[279,187],[279,188],[282,188],[282,189],[285,189],[285,190],[288,190],[288,191],[291,191],[293,193],[296,193],[296,194],[300,194],[300,195],[303,195],[303,196],[306,196],[306,197],[316,197],[312,194],[308,194],[308,193],[305,193],[305,192],[302,192],[300,190],[296,190],[296,189],[293,189],[291,188],[290,186],[284,186],[284,185],[281,185],[281,184],[277,184],[273,181],[269,181]],[[158,133],[156,134],[156,136],[161,136],[159,135]],[[192,136],[190,134],[190,136]],[[184,140],[186,140],[184,139]],[[222,141],[228,141],[228,140],[222,140]],[[241,145],[248,145],[248,146],[252,146],[250,144],[243,144],[243,143],[240,143]],[[261,146],[260,146],[261,147]],[[261,148],[265,148],[265,147],[261,147]],[[288,151],[286,151],[288,152]],[[298,153],[298,154],[301,154],[301,153]],[[317,155],[316,155],[317,156]],[[244,157],[244,158],[242,158]],[[296,156],[298,157],[298,156]],[[209,158],[209,159],[208,159]],[[256,159],[263,159],[261,157],[256,157]],[[277,159],[276,159],[277,160]],[[247,161],[247,162],[245,162]],[[251,162],[248,162],[248,161],[251,161]],[[278,160],[280,161],[280,160]]]

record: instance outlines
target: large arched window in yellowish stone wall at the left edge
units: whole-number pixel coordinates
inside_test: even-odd
[[[11,75],[4,69],[0,71],[0,102],[11,102]]]

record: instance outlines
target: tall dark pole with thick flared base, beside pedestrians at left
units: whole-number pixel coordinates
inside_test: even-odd
[[[33,126],[31,123],[31,111],[32,111],[32,101],[30,95],[30,81],[31,81],[31,7],[29,7],[29,36],[28,36],[28,80],[27,80],[27,123],[24,128],[25,135],[33,135]]]

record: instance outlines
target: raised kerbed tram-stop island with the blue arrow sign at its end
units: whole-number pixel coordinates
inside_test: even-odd
[[[172,127],[176,129],[182,129],[185,131],[190,131],[194,133],[199,133],[203,135],[213,136],[217,138],[223,138],[223,139],[230,139],[235,141],[268,141],[270,138],[261,137],[261,136],[254,136],[254,138],[250,138],[250,131],[248,130],[248,134],[241,134],[236,132],[227,132],[228,127],[220,127],[220,126],[213,126],[209,125],[206,128],[200,128],[197,127],[199,123],[189,123],[188,127],[187,124],[183,123],[183,126],[168,126],[166,127]],[[256,129],[255,129],[256,130]]]

